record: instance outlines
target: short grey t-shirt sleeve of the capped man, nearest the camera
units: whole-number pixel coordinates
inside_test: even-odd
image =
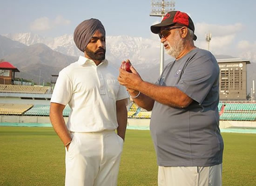
[[[175,87],[202,104],[212,85],[218,79],[219,70],[216,63],[214,56],[200,56],[191,60]]]

